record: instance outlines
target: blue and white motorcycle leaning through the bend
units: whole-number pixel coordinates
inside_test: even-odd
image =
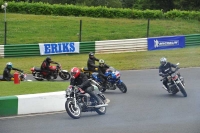
[[[98,73],[92,73],[92,79],[98,82],[101,86],[103,85],[101,79],[97,76]],[[120,79],[120,72],[117,71],[115,68],[110,67],[106,70],[105,76],[107,78],[106,87],[101,87],[101,92],[105,92],[106,90],[115,90],[119,88],[122,93],[127,92],[127,87],[124,82]]]

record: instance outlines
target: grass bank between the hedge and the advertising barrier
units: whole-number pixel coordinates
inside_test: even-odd
[[[46,16],[7,13],[7,44],[35,44],[143,38],[146,19],[108,19],[72,16]],[[151,20],[150,37],[197,34],[200,23],[194,20]],[[0,44],[4,44],[4,13],[0,13]]]

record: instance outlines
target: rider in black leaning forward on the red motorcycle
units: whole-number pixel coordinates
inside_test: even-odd
[[[52,64],[58,64],[57,62],[52,61],[50,56],[47,56],[46,59],[41,64],[41,70],[44,71],[44,72],[46,72],[47,76],[49,78],[51,78],[51,76],[52,76],[52,71],[49,68],[49,66],[50,66],[51,63]]]

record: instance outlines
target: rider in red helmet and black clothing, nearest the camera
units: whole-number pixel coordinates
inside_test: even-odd
[[[82,73],[79,68],[73,67],[71,69],[71,76],[72,77],[70,79],[70,85],[68,88],[71,88],[72,86],[76,85],[79,87],[78,89],[81,93],[87,92],[91,97],[97,100],[98,104],[101,104],[101,100],[96,95],[96,93],[94,93],[94,87],[91,85],[87,76],[84,73]]]

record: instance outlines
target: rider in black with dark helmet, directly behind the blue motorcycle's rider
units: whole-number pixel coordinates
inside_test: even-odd
[[[99,61],[99,59],[94,57],[94,53],[90,52],[89,53],[89,58],[87,61],[87,67],[89,71],[93,71],[95,72],[95,68],[97,68],[98,66],[95,65],[95,61]]]

